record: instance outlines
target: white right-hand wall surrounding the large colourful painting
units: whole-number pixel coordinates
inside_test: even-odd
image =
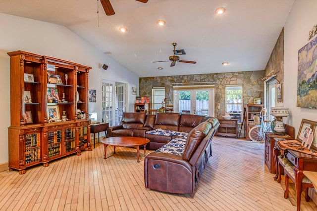
[[[284,106],[290,109],[288,124],[296,135],[302,119],[317,121],[316,109],[296,107],[298,50],[309,42],[309,31],[316,24],[317,0],[295,0],[284,28]]]

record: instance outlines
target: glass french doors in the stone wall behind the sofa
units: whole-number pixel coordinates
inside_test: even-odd
[[[214,89],[174,89],[176,112],[190,111],[190,114],[214,116]]]

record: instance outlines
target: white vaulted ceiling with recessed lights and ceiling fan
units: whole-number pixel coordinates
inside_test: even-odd
[[[112,16],[97,0],[0,0],[0,12],[64,25],[139,77],[152,77],[264,70],[294,2],[110,1]],[[225,13],[215,14],[217,7]],[[159,19],[166,25],[159,26]],[[197,64],[153,63],[173,55],[172,42],[186,51],[181,60]]]

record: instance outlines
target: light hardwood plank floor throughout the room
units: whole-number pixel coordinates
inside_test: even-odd
[[[284,181],[273,180],[264,165],[264,145],[214,137],[212,157],[193,194],[166,194],[144,186],[143,150],[140,163],[133,148],[107,148],[37,166],[20,175],[0,172],[0,210],[212,210],[293,211],[294,185],[284,199]],[[142,152],[142,153],[141,153]],[[147,151],[147,153],[150,150]],[[180,178],[181,179],[181,178]],[[304,195],[303,195],[304,196]],[[293,204],[293,205],[292,205]],[[317,210],[302,197],[303,211]],[[296,210],[296,209],[295,209]]]

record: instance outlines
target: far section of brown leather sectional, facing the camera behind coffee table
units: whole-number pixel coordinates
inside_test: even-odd
[[[145,113],[123,113],[121,124],[107,128],[106,137],[114,136],[135,136],[150,139],[147,149],[159,149],[164,144],[177,136],[163,136],[147,134],[152,129],[173,130],[189,132],[200,123],[210,120],[214,125],[218,120],[213,117],[199,115],[180,115],[178,113],[158,113],[146,115]]]

